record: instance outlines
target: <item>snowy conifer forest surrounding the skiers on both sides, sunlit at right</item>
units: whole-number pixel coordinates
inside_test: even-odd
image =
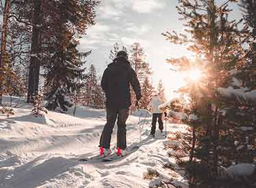
[[[0,130],[2,124],[8,125],[5,119],[16,116],[17,109],[23,106],[34,118],[49,112],[79,117],[77,110],[81,107],[105,109],[103,73],[98,64],[88,61],[97,49],[78,48],[88,29],[97,25],[96,18],[101,16],[97,7],[102,2],[0,2]],[[239,7],[241,19],[231,19],[231,4]],[[164,56],[166,61],[162,63],[170,66],[170,74],[185,75],[185,84],[179,89],[170,91],[162,79],[153,83],[157,70],[140,42],[126,45],[116,40],[105,59],[111,63],[120,50],[127,52],[140,82],[139,108],[149,110],[152,95],[157,92],[162,100],[159,110],[167,112],[165,123],[186,126],[183,131],[168,128],[164,150],[175,162],[162,165],[165,170],[182,172],[182,181],[166,181],[151,168],[144,180],[154,181],[149,187],[183,187],[177,183],[183,180],[188,187],[255,187],[256,1],[179,0],[176,11],[179,20],[175,22],[182,22],[183,30],[175,30],[170,22],[170,29],[159,33],[159,38],[183,46],[192,54],[176,57],[170,52]],[[164,78],[168,79],[168,75]],[[170,92],[177,95],[169,99],[166,96]],[[130,114],[138,108],[136,101],[132,91]]]

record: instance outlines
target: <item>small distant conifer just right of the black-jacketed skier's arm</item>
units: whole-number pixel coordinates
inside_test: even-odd
[[[149,102],[151,101],[152,93],[153,93],[153,86],[148,77],[145,78],[142,84],[142,99],[140,99],[140,108],[147,109]]]

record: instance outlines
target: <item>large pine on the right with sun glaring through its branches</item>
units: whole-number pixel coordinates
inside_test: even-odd
[[[188,49],[201,59],[193,62],[181,58],[170,59],[168,62],[177,66],[180,71],[201,69],[201,78],[196,82],[188,79],[187,86],[180,90],[190,100],[186,109],[179,112],[185,112],[188,117],[185,121],[192,128],[187,137],[189,139],[185,139],[191,146],[188,164],[192,165],[192,161],[200,159],[201,162],[212,164],[214,172],[217,172],[219,162],[223,165],[231,162],[227,160],[227,154],[231,152],[228,151],[227,145],[230,142],[227,140],[231,140],[232,136],[230,129],[224,128],[226,116],[222,110],[231,109],[232,104],[223,99],[218,90],[229,87],[231,70],[246,63],[241,44],[247,41],[247,28],[239,31],[241,20],[229,21],[229,2],[217,6],[214,0],[181,0],[177,10],[186,21],[185,27],[188,29],[185,31],[191,38],[184,34],[178,35],[175,31],[164,33],[172,43],[188,44]],[[191,183],[194,183],[195,179],[192,180],[193,178],[190,179]]]

